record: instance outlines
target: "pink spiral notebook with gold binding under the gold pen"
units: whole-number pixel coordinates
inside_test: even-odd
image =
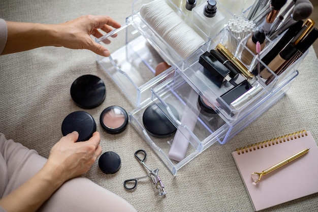
[[[256,184],[251,173],[310,148],[303,156],[263,175]],[[255,211],[318,192],[318,147],[310,132],[300,131],[259,142],[232,153]]]

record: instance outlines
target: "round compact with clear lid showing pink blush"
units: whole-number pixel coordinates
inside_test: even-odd
[[[100,123],[107,133],[118,134],[126,129],[128,114],[122,107],[110,106],[101,113]]]

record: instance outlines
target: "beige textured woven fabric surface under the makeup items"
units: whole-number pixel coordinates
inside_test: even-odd
[[[107,14],[124,23],[125,17],[131,14],[131,4],[132,0],[2,0],[0,17],[13,21],[59,23],[85,14]],[[175,177],[132,125],[119,135],[109,135],[98,124],[103,152],[118,153],[122,166],[116,174],[105,175],[95,163],[86,176],[128,200],[138,211],[252,211],[231,152],[238,146],[302,129],[311,131],[318,141],[317,67],[317,57],[310,48],[299,67],[299,76],[285,97],[225,145],[213,144],[182,167]],[[107,86],[105,102],[96,109],[87,110],[96,120],[110,105],[119,105],[126,110],[134,108],[97,64],[96,55],[88,50],[45,47],[1,56],[0,131],[7,138],[47,157],[50,148],[61,137],[63,118],[80,110],[70,97],[70,86],[84,74],[101,77]],[[159,175],[168,193],[166,198],[157,196],[147,180],[134,192],[123,188],[123,180],[145,174],[134,158],[135,150],[140,148],[148,153],[148,166],[160,169]],[[318,194],[314,194],[264,211],[317,211],[317,208]]]

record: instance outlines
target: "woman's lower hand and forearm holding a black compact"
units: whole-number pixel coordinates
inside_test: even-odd
[[[65,181],[86,173],[101,155],[100,134],[76,142],[78,133],[62,137],[51,149],[43,168],[19,188],[0,199],[6,211],[36,211]]]

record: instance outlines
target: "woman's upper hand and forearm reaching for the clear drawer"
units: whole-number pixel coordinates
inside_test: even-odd
[[[6,21],[8,38],[2,54],[26,51],[43,46],[88,49],[102,56],[110,52],[90,36],[102,37],[99,29],[109,33],[120,24],[109,16],[86,15],[60,24]]]

